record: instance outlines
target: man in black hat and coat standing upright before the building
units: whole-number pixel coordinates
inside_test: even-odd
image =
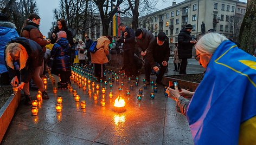
[[[178,34],[178,58],[181,59],[180,74],[187,74],[188,58],[192,57],[192,48],[196,43],[190,35],[192,29],[192,25],[188,24],[185,26],[185,29],[182,29],[180,34]]]

